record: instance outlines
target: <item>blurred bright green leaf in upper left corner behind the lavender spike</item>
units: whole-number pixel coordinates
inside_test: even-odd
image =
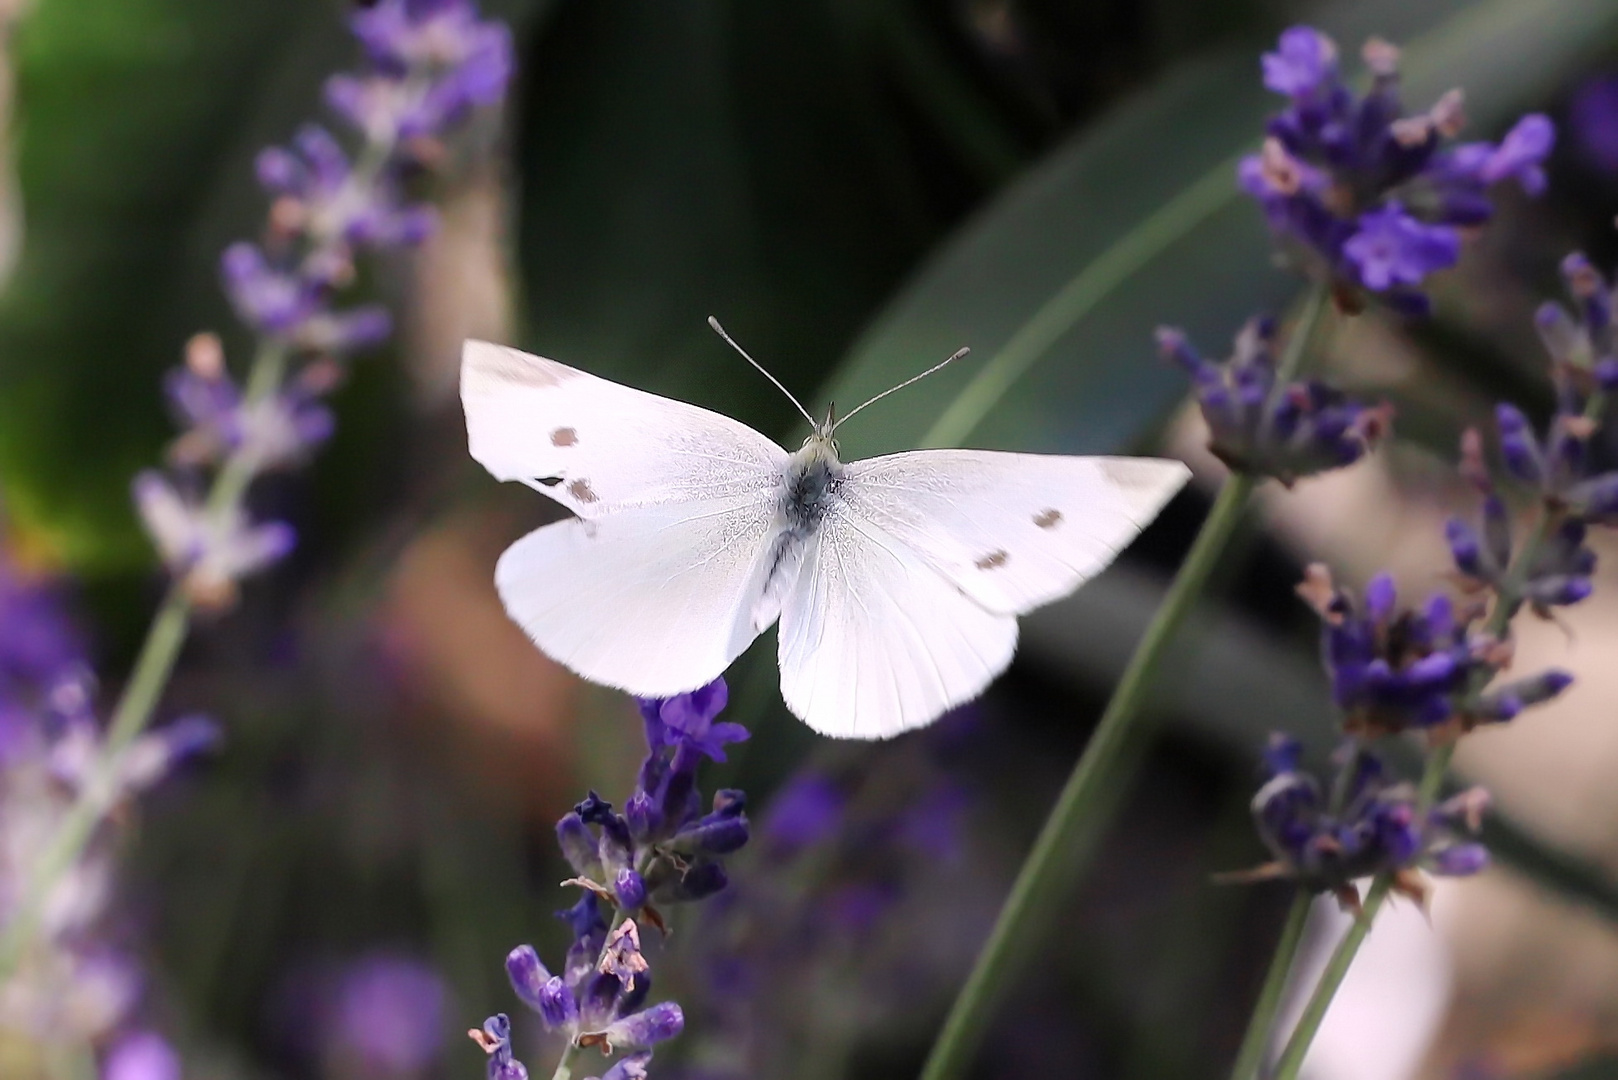
[[[540,3],[485,6],[527,18]],[[256,152],[320,118],[320,83],[354,60],[346,8],[39,0],[16,31],[26,225],[0,296],[0,492],[74,570],[152,560],[128,492],[173,434],[162,374],[197,330],[243,345],[218,253],[264,220]],[[361,371],[343,419],[390,400],[392,377]],[[354,457],[366,440],[345,432]]]

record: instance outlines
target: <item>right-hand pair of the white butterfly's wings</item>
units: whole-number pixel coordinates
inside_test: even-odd
[[[1011,662],[1016,615],[1102,570],[1188,474],[981,450],[845,466],[781,610],[781,696],[827,735],[930,724]]]

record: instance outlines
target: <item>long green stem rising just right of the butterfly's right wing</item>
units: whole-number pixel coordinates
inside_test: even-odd
[[[1327,291],[1319,287],[1311,288],[1278,366],[1278,384],[1288,381],[1302,364],[1304,353],[1312,348],[1325,306]],[[1129,665],[1118,680],[1095,733],[1061,789],[1023,870],[1018,871],[1005,907],[1000,908],[1000,916],[977,954],[977,963],[956,994],[955,1006],[932,1046],[921,1080],[956,1080],[971,1065],[1006,984],[1021,967],[1027,949],[1050,923],[1052,910],[1061,899],[1078,861],[1074,852],[1086,852],[1092,836],[1100,831],[1116,803],[1115,792],[1126,785],[1128,774],[1134,771],[1120,764],[1131,761],[1131,750],[1142,743],[1149,732],[1139,721],[1155,687],[1158,667],[1202,594],[1256,486],[1252,476],[1238,473],[1220,489],[1186,562],[1168,586],[1168,594],[1146,628],[1134,656],[1129,657]]]

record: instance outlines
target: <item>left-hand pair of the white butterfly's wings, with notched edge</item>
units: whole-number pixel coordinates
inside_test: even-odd
[[[468,342],[472,457],[578,517],[500,557],[506,612],[579,675],[693,690],[757,636],[786,452],[718,413]]]

